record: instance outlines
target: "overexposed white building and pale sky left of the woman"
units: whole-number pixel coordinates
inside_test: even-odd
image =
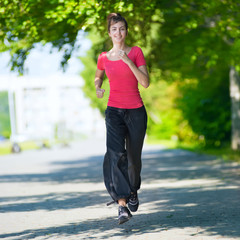
[[[11,72],[9,52],[0,53],[0,143],[2,154],[23,149],[68,146],[72,141],[104,136],[104,119],[82,91],[84,56],[91,42],[79,32],[83,45],[72,55],[65,72],[60,69],[62,51],[50,44],[34,48],[24,75]]]

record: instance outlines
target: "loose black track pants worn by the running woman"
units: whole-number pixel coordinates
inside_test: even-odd
[[[107,152],[103,162],[105,186],[113,198],[128,199],[141,184],[141,155],[147,128],[145,107],[107,107]]]

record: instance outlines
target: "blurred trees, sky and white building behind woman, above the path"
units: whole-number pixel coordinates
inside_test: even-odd
[[[239,156],[239,10],[232,0],[1,1],[1,139],[104,136],[108,94],[96,98],[94,75],[111,49],[106,17],[120,12],[148,64],[147,142]]]

